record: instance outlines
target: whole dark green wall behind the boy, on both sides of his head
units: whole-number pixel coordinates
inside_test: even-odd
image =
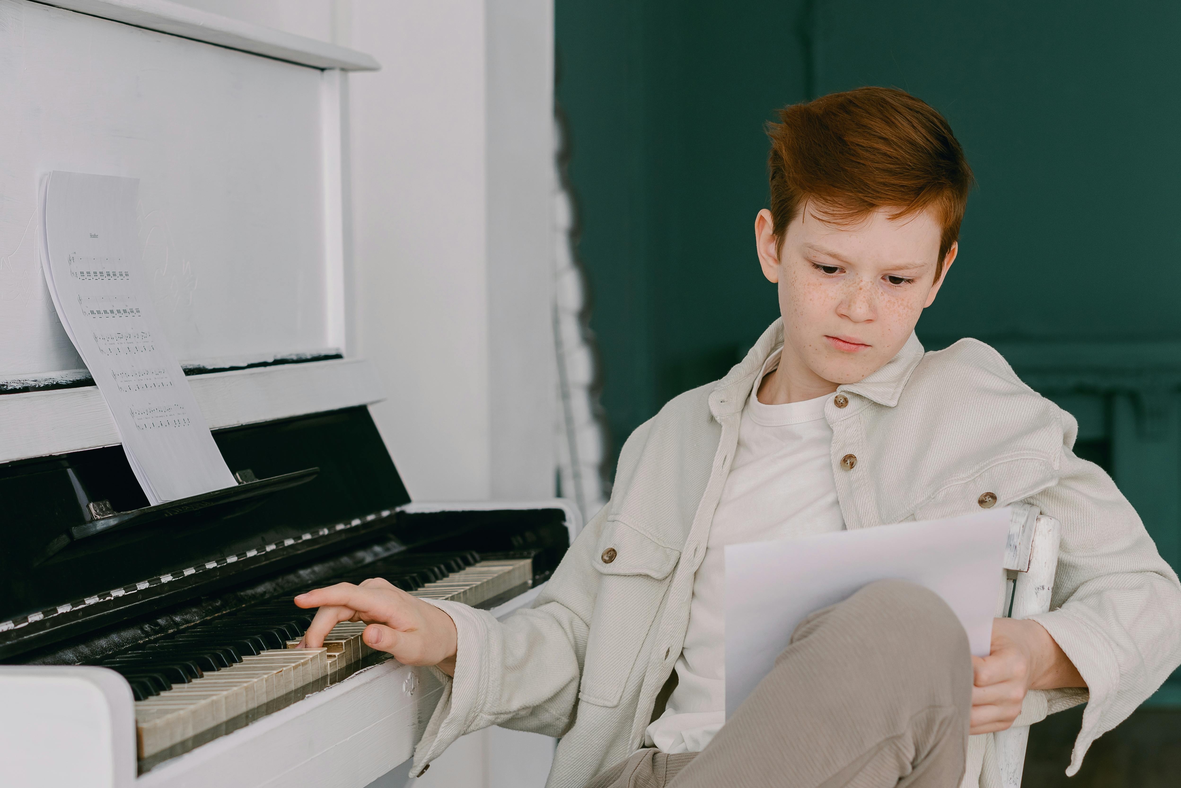
[[[1040,343],[1022,349],[1037,360],[1065,340],[1181,339],[1176,41],[1181,5],[1161,2],[557,0],[557,98],[616,450],[776,317],[752,250],[763,123],[859,85],[942,111],[978,176],[959,261],[919,324],[928,346]],[[1114,405],[1079,405],[1095,411],[1082,431],[1110,460]]]

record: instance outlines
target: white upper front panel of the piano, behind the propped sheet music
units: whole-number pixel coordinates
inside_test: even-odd
[[[53,169],[141,180],[144,271],[182,362],[339,347],[338,76],[0,0],[0,377],[81,366],[34,255]]]

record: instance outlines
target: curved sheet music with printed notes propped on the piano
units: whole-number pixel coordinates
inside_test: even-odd
[[[156,504],[235,481],[156,317],[139,265],[138,191],[133,178],[50,174],[38,255],[58,318]]]

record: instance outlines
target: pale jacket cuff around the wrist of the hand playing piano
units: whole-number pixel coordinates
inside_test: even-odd
[[[488,647],[488,642],[491,626],[496,624],[488,612],[462,603],[442,599],[423,601],[435,605],[455,621],[456,658],[454,678],[437,667],[430,667],[435,677],[443,682],[443,696],[415,748],[415,764],[411,771],[416,776],[455,740],[482,727],[476,724],[476,719],[488,696],[489,665],[481,655],[492,651]]]

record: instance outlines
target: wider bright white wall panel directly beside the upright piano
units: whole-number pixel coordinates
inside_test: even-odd
[[[383,64],[350,76],[358,352],[387,395],[371,411],[413,499],[488,499],[484,2],[352,15],[350,45]]]

